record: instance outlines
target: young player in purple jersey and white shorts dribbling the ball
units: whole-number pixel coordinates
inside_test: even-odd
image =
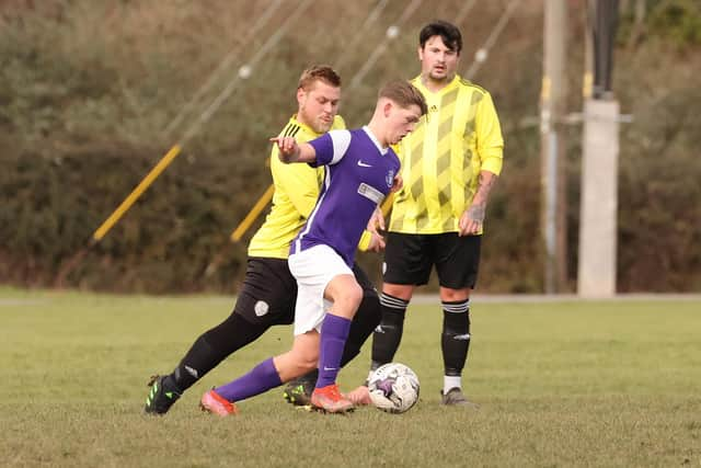
[[[416,88],[392,81],[380,91],[372,118],[363,128],[332,130],[301,145],[292,137],[271,139],[281,161],[325,167],[317,206],[290,248],[289,266],[298,284],[295,340],[287,353],[206,392],[200,400],[204,410],[222,416],[235,413],[235,401],[317,367],[312,406],[332,413],[353,409],[336,385],[350,320],[363,298],[350,266],[378,205],[401,187],[400,161],[390,145],[412,132],[426,111]]]

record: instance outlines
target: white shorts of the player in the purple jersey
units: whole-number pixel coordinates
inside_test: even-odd
[[[297,279],[295,305],[295,336],[310,330],[321,331],[321,322],[332,303],[324,299],[324,290],[338,275],[353,275],[341,255],[329,246],[314,246],[289,255],[289,271]]]

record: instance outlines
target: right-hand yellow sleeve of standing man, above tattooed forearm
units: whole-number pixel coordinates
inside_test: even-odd
[[[502,172],[504,158],[504,138],[502,126],[494,109],[494,102],[490,93],[485,93],[480,101],[475,115],[475,133],[478,155],[481,160],[481,170],[496,175]]]

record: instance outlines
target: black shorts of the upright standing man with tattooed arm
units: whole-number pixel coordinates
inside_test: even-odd
[[[421,286],[435,265],[440,286],[474,289],[482,236],[388,232],[382,271],[384,283]]]

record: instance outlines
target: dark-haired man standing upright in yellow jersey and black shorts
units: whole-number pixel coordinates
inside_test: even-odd
[[[388,227],[372,369],[392,361],[416,286],[435,266],[443,306],[444,404],[469,404],[461,374],[470,345],[470,293],[475,286],[490,191],[502,169],[504,141],[490,93],[457,75],[460,31],[445,21],[422,28],[421,75],[427,118],[401,142],[403,189]],[[350,393],[367,402],[367,389]]]

